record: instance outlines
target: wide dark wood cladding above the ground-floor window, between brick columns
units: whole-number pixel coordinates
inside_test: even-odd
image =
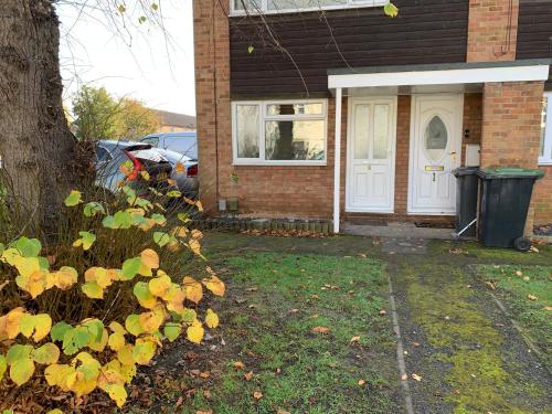
[[[394,3],[400,9],[394,19],[382,8],[265,15],[293,59],[274,46],[261,18],[231,18],[232,96],[305,95],[306,89],[323,95],[327,70],[348,65],[466,61],[468,0]]]

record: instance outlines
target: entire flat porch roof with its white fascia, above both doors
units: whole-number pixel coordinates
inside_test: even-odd
[[[328,87],[336,89],[546,81],[551,64],[552,59],[534,59],[509,62],[460,62],[335,68],[328,70]]]

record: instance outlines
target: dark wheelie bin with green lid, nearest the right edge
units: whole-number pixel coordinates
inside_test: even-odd
[[[541,170],[523,168],[482,168],[477,170],[479,185],[479,238],[488,247],[531,247],[523,237],[527,212],[534,182],[544,176]]]

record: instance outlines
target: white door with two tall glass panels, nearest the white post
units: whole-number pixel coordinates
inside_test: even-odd
[[[395,131],[396,97],[349,100],[347,211],[393,212]]]

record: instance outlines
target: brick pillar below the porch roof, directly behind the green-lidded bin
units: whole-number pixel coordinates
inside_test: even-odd
[[[543,93],[544,82],[485,84],[481,167],[538,167]],[[533,217],[532,202],[526,234]]]

